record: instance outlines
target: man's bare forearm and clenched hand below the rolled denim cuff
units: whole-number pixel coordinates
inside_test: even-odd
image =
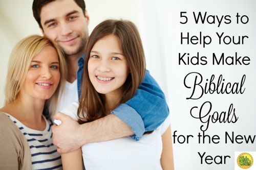
[[[117,139],[134,134],[132,129],[114,114],[82,125],[79,125],[70,116],[60,112],[54,115],[54,119],[61,120],[59,126],[52,126],[53,144],[58,147],[57,151],[61,154],[75,151],[83,144]]]

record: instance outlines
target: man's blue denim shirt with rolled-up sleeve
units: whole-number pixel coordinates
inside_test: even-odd
[[[77,89],[80,98],[80,84],[85,54],[78,60]],[[132,99],[118,106],[111,113],[117,115],[132,128],[133,139],[139,140],[144,132],[158,128],[169,114],[164,93],[146,70],[146,75]]]

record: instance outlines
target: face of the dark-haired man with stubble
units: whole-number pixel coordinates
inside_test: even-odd
[[[89,16],[73,0],[56,0],[41,9],[42,32],[66,55],[84,52]]]

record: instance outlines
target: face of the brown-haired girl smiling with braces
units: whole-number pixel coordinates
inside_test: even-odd
[[[118,98],[121,96],[129,69],[116,35],[107,35],[94,44],[88,71],[90,81],[97,92],[115,94]]]

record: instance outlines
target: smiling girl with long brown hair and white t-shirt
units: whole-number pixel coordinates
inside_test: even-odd
[[[136,26],[124,20],[101,22],[88,39],[84,65],[79,106],[73,103],[63,111],[80,124],[110,114],[136,93],[146,71]],[[123,137],[61,154],[63,169],[81,169],[82,158],[87,170],[174,169],[169,124],[168,117],[139,141]]]

